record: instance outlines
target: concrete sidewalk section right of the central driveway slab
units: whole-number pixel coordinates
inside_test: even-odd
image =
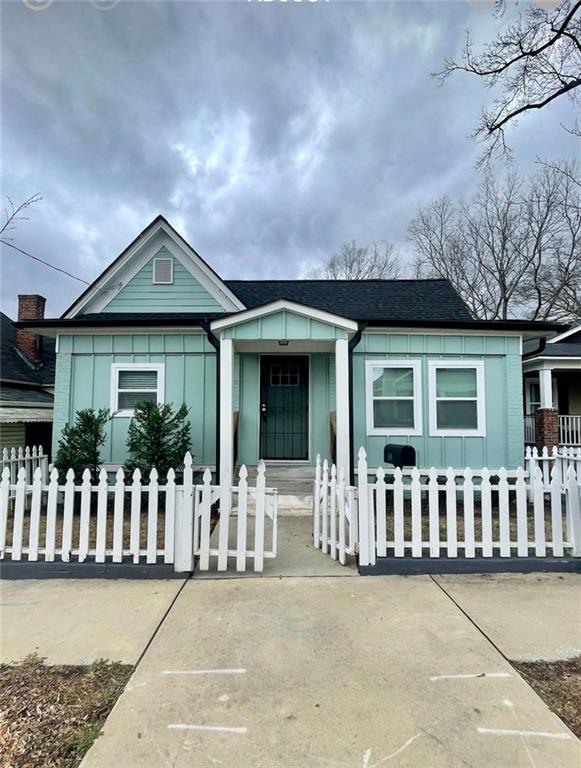
[[[435,576],[513,661],[581,655],[581,575],[512,573]]]

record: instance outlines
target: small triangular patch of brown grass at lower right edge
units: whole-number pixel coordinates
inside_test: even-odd
[[[581,738],[581,656],[566,661],[511,661],[515,669]]]

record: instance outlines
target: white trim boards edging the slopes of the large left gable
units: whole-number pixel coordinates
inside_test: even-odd
[[[194,249],[164,221],[152,222],[148,230],[126,253],[90,286],[64,315],[69,320],[88,312],[102,312],[127,283],[153,258],[160,248],[167,248],[190,274],[224,308],[231,312],[245,309],[240,299],[210,269]]]

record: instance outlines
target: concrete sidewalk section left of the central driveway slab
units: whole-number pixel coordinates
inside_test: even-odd
[[[0,662],[135,664],[183,581],[0,581]]]

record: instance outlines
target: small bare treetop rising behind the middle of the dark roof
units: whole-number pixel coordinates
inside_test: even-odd
[[[307,277],[327,280],[394,280],[399,274],[399,259],[391,243],[359,246],[352,240],[343,243],[339,252],[330,256],[324,264],[310,270]]]

